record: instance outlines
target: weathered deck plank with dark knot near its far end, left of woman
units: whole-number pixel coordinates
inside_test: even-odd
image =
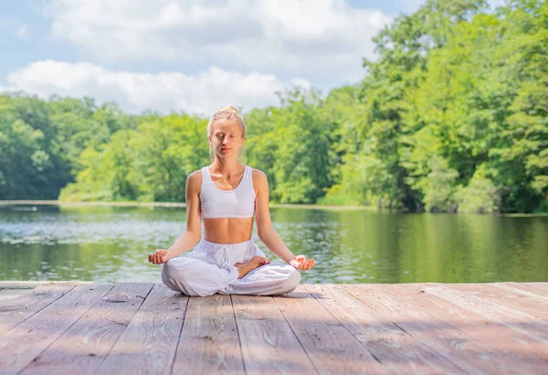
[[[117,284],[21,373],[94,373],[152,287]]]

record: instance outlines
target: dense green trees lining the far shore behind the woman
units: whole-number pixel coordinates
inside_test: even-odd
[[[548,211],[548,5],[429,0],[385,27],[364,80],[246,114],[281,203]],[[184,201],[206,119],[0,96],[0,198]]]

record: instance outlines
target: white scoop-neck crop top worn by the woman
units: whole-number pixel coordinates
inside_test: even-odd
[[[202,168],[200,203],[204,218],[252,218],[255,213],[253,169],[246,166],[244,177],[232,190],[222,190],[213,183],[209,167]]]

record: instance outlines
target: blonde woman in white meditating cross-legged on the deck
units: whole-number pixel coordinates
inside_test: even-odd
[[[186,180],[186,230],[167,250],[149,254],[162,264],[162,281],[184,295],[280,295],[300,283],[300,270],[314,259],[294,256],[272,228],[269,182],[258,169],[238,163],[246,124],[234,107],[216,112],[207,124],[213,162]],[[270,264],[251,237],[258,237],[288,264]],[[204,238],[201,238],[201,217]],[[198,245],[186,256],[196,242]]]

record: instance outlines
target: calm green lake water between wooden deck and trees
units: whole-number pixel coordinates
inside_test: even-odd
[[[548,281],[548,217],[271,214],[291,251],[316,259],[303,283]],[[161,282],[147,254],[169,247],[184,220],[184,209],[0,206],[0,280]]]

